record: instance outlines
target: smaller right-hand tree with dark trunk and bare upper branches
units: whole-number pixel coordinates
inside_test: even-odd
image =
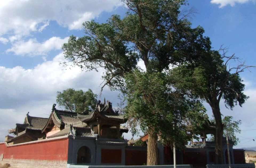
[[[223,51],[223,54],[219,51]],[[239,58],[234,55],[227,56],[225,48],[219,51],[207,50],[200,57],[186,59],[170,71],[170,77],[175,87],[187,90],[187,95],[197,96],[211,106],[216,126],[215,163],[223,164],[224,125],[219,104],[223,99],[226,107],[232,110],[235,105],[242,106],[245,103],[249,97],[243,93],[245,85],[239,73],[252,66],[239,62]],[[230,68],[233,60],[239,64]]]

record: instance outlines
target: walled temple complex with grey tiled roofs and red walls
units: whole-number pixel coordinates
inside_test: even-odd
[[[23,124],[9,130],[0,143],[0,163],[14,167],[55,167],[70,164],[81,165],[143,165],[147,160],[147,147],[134,146],[138,140],[147,141],[148,135],[136,140],[123,140],[128,128],[122,126],[127,119],[114,111],[111,102],[99,100],[95,110],[88,114],[57,110],[53,105],[49,118],[32,117],[26,114]],[[206,122],[201,134],[202,141],[177,150],[177,164],[205,167],[214,164],[214,142],[206,141],[206,135],[215,131],[212,123]],[[227,145],[223,139],[224,163],[227,163]],[[159,165],[173,164],[170,147],[158,143]],[[244,150],[233,149],[230,143],[231,163],[245,163]],[[242,157],[243,156],[243,157]],[[32,166],[32,167],[33,167]]]

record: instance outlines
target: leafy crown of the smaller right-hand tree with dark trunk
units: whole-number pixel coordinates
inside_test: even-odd
[[[188,94],[198,96],[211,106],[214,100],[219,104],[221,98],[230,109],[237,103],[242,106],[249,97],[243,93],[245,85],[239,74],[227,69],[218,51],[202,55],[204,57],[197,62],[186,62],[170,71],[175,87],[187,90]]]

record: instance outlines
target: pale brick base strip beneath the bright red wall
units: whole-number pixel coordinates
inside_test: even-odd
[[[67,161],[48,161],[48,160],[27,160],[27,159],[3,159],[0,160],[3,165],[10,163],[15,168],[66,168]]]

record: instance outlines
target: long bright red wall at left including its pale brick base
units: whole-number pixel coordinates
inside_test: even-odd
[[[16,145],[0,144],[0,163],[10,163],[17,168],[67,167],[67,137],[45,139]]]

